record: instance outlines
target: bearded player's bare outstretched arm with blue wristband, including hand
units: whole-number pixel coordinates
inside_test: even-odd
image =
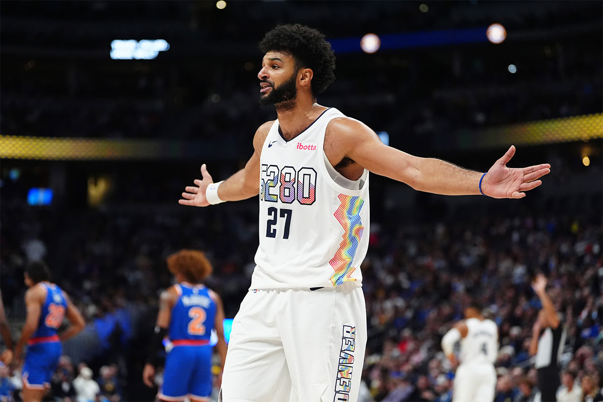
[[[525,192],[540,186],[540,177],[551,171],[551,165],[508,168],[515,154],[509,150],[491,166],[488,172],[471,171],[434,158],[421,158],[391,148],[361,122],[352,119],[333,119],[327,130],[336,130],[332,138],[343,149],[341,157],[349,157],[369,171],[402,181],[415,190],[443,195],[473,195],[480,193],[493,198],[523,198]]]

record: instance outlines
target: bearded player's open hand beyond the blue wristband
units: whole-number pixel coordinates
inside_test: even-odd
[[[551,172],[551,165],[529,166],[528,168],[507,168],[507,163],[515,154],[515,146],[496,161],[482,180],[482,192],[492,198],[523,198],[525,191],[540,186],[538,180]]]

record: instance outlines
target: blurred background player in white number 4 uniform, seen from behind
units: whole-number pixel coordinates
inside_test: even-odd
[[[442,338],[442,350],[453,366],[457,365],[453,348],[460,342],[460,364],[456,369],[453,402],[492,402],[496,388],[494,361],[498,354],[498,328],[482,315],[473,302],[464,312],[465,319],[456,323]]]

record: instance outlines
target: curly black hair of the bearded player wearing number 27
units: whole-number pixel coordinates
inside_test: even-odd
[[[265,34],[260,51],[288,52],[295,58],[296,67],[314,72],[312,95],[316,96],[335,81],[335,54],[324,34],[301,24],[278,25]]]

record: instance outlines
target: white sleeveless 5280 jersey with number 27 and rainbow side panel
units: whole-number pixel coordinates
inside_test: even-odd
[[[275,121],[260,155],[259,247],[250,289],[361,286],[368,248],[368,171],[358,181],[324,157],[327,124],[346,117],[329,108],[290,141]],[[335,183],[356,184],[349,190]],[[362,183],[361,186],[358,186]]]

